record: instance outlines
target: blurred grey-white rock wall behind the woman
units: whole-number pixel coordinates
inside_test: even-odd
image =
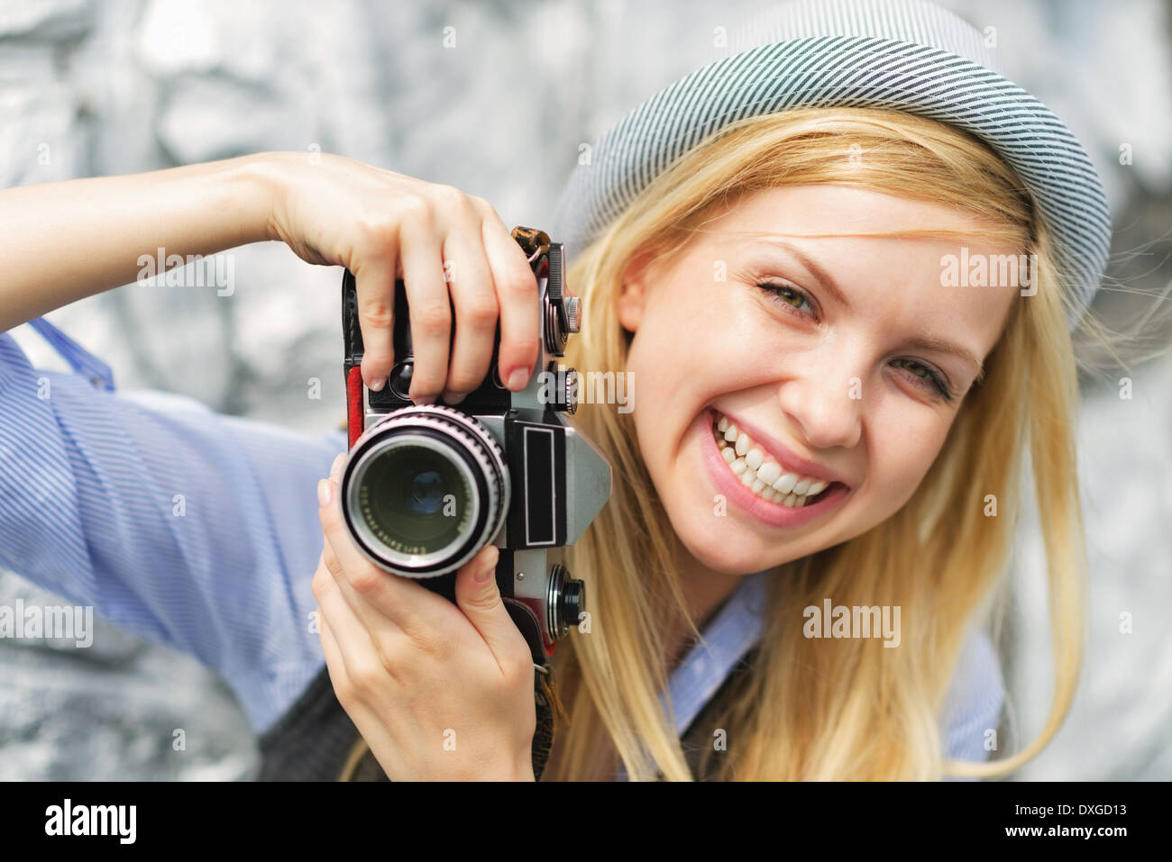
[[[764,5],[0,0],[0,183],[325,151],[481,194],[510,226],[547,225],[579,145],[700,64],[716,27]],[[1170,4],[943,5],[995,28],[1010,77],[1091,151],[1117,227],[1096,310],[1127,320],[1172,276]],[[166,218],[168,201],[156,206]],[[230,254],[231,296],[127,286],[48,317],[108,361],[122,389],[176,391],[306,431],[336,426],[340,271],[279,244]],[[35,364],[67,368],[28,327],[13,335]],[[311,377],[320,399],[306,396]],[[1168,779],[1172,360],[1084,384],[1086,666],[1055,743],[1014,778]],[[1041,728],[1049,706],[1040,554],[1027,518],[1001,638],[1010,748]],[[60,601],[0,573],[0,604],[18,598]],[[1120,634],[1122,614],[1132,615],[1131,634]],[[255,741],[222,680],[111,627],[100,625],[88,650],[0,639],[0,779],[246,779],[257,768]],[[184,752],[171,746],[177,727]]]

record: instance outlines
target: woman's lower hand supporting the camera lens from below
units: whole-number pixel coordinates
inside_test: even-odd
[[[319,484],[313,576],[338,700],[391,781],[534,780],[533,657],[500,600],[497,549],[457,573],[459,607],[375,567],[341,520],[342,460]]]

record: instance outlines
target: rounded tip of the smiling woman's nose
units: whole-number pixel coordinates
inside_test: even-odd
[[[861,377],[847,370],[841,355],[809,358],[805,368],[781,382],[782,410],[816,452],[852,449],[863,436]]]

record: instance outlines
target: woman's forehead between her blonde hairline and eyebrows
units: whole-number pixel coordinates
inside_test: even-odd
[[[996,283],[1004,278],[999,266],[1009,256],[1017,264],[1022,249],[984,239],[984,227],[959,207],[851,186],[788,186],[722,207],[702,226],[695,251],[729,262],[789,266],[827,305],[804,258],[833,281],[852,312],[898,333],[965,337],[984,356],[1018,296],[1017,278],[1026,278],[1014,271],[1013,281]],[[852,235],[867,233],[891,235]],[[983,282],[976,278],[982,259]]]

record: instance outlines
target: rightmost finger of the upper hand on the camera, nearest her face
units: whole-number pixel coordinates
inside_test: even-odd
[[[537,278],[525,253],[495,212],[484,220],[483,239],[500,309],[500,382],[517,392],[525,388],[537,362],[540,336]]]

